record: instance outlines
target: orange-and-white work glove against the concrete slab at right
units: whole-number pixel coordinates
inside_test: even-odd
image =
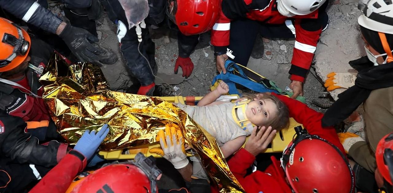
[[[327,91],[332,91],[336,88],[349,88],[355,85],[357,73],[352,72],[331,72],[327,75],[328,79],[325,81]]]

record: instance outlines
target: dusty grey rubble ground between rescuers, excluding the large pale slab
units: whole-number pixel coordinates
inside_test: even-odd
[[[62,7],[59,4],[61,3],[53,3],[51,10],[56,9],[56,12],[62,15]],[[341,12],[340,15],[342,15]],[[105,12],[96,21],[96,24],[101,46],[112,48],[119,57],[119,61],[115,64],[102,66],[103,73],[113,90],[125,91],[132,85],[132,81],[130,81],[130,75],[127,71],[127,62],[122,57],[119,49],[119,42],[116,37],[117,26],[108,20]],[[194,70],[191,76],[185,79],[182,77],[181,68],[179,68],[178,74],[174,74],[173,72],[175,60],[178,56],[176,31],[170,31],[169,29],[159,28],[157,26],[152,26],[152,29],[149,30],[152,32],[152,39],[156,44],[157,76],[160,77],[156,79],[156,84],[165,85],[166,83],[172,87],[176,86],[176,88],[182,91],[177,91],[176,94],[183,96],[204,96],[207,94],[211,86],[211,80],[217,75],[213,47],[209,45],[210,33],[201,35],[196,50],[190,55],[191,61],[194,63]],[[156,32],[159,35],[154,35]],[[262,38],[262,40],[266,50],[263,58],[251,58],[248,67],[275,81],[279,84],[280,88],[285,88],[290,83],[288,71],[291,65],[290,59],[292,58],[294,39],[277,40]],[[163,79],[163,81],[160,79]],[[311,100],[318,97],[318,93],[323,91],[320,83],[312,76],[307,77],[304,88],[307,104],[311,104]],[[315,109],[320,110],[318,108]]]

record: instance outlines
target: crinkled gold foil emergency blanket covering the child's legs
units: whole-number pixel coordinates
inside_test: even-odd
[[[98,66],[87,62],[67,64],[57,54],[48,63],[47,72],[40,81],[51,117],[68,143],[75,144],[84,130],[99,130],[108,123],[110,132],[101,149],[148,145],[156,142],[158,131],[166,124],[176,124],[200,155],[220,192],[244,192],[215,139],[172,103],[110,91]]]

